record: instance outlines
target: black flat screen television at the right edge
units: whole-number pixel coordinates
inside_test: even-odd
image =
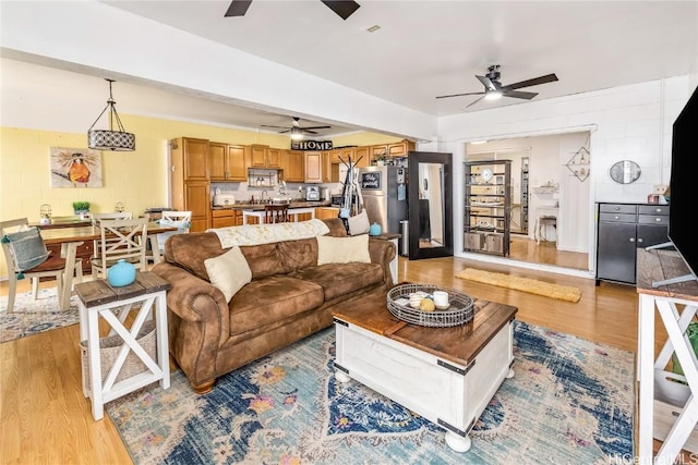
[[[659,287],[683,281],[698,280],[698,88],[674,121],[672,133],[672,172],[669,200],[669,240],[681,254],[689,273],[652,283]],[[657,247],[657,246],[655,246]],[[654,247],[648,247],[654,248]]]

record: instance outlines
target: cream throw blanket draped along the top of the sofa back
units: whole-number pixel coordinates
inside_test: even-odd
[[[242,227],[215,228],[222,248],[242,245],[272,244],[274,242],[317,237],[329,232],[322,220],[313,219],[298,223],[245,224]]]

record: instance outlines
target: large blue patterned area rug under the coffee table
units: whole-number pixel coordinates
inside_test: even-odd
[[[196,395],[181,371],[107,404],[136,464],[600,464],[633,457],[634,354],[515,322],[515,376],[450,450],[444,430],[335,381],[334,329]],[[438,395],[435,392],[434,395]],[[625,462],[623,462],[625,463]]]

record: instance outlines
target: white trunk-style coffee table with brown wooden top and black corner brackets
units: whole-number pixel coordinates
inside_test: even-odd
[[[467,452],[478,417],[514,376],[516,307],[476,301],[471,322],[424,328],[395,318],[383,299],[336,310],[335,377],[354,379],[446,429],[446,444]]]

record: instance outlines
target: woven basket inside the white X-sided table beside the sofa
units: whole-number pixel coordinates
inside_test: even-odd
[[[157,363],[156,356],[156,332],[155,332],[155,322],[153,320],[145,321],[143,327],[139,331],[139,335],[136,336],[136,341],[145,350],[145,352]],[[99,340],[99,362],[101,366],[101,381],[104,382],[109,375],[109,370],[113,365],[113,362],[117,359],[117,355],[119,355],[119,351],[121,346],[124,344],[123,340],[119,334],[110,335],[107,338],[101,338]],[[87,341],[82,341],[80,343],[80,352],[82,356],[82,366],[83,366],[83,393],[85,396],[89,396],[92,393],[92,383],[91,383],[91,375],[89,375],[89,357],[87,356]],[[132,376],[140,375],[142,372],[148,371],[148,367],[145,366],[143,360],[133,353],[133,351],[129,351],[129,355],[127,355],[127,359],[117,375],[116,382],[122,381],[124,379],[129,379]]]

